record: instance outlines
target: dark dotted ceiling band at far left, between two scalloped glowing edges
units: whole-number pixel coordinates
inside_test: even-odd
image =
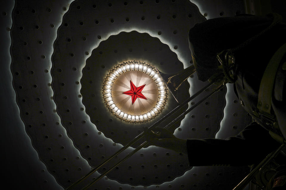
[[[15,2],[10,50],[13,87],[26,132],[40,159],[63,186],[90,168],[60,126],[52,99],[50,56],[55,26],[64,12],[62,7],[66,6],[66,2]]]

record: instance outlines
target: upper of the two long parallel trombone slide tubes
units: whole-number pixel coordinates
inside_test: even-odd
[[[158,120],[156,123],[154,123],[153,125],[151,125],[150,127],[148,127],[148,130],[153,129],[154,127],[158,126],[161,122],[163,122],[165,119],[167,119],[168,117],[170,117],[173,113],[175,113],[176,111],[178,111],[181,107],[183,107],[184,105],[186,105],[188,102],[190,102],[192,99],[194,99],[196,96],[198,96],[200,93],[202,93],[204,90],[206,90],[207,88],[209,88],[213,83],[215,83],[215,80],[212,81],[211,83],[207,84],[206,86],[204,86],[202,89],[200,89],[198,92],[196,92],[194,95],[192,95],[191,97],[189,97],[188,99],[186,99],[183,103],[181,103],[180,105],[178,105],[177,107],[175,107],[172,111],[170,111],[169,113],[167,113],[167,115],[165,115],[164,117],[162,117],[160,120]],[[114,153],[112,156],[110,156],[108,159],[106,159],[104,162],[102,162],[101,164],[97,165],[94,169],[92,169],[90,172],[88,172],[88,174],[86,174],[85,176],[83,176],[82,178],[80,178],[79,180],[77,180],[75,183],[71,184],[71,186],[69,186],[66,190],[70,190],[71,188],[73,188],[74,186],[76,186],[77,184],[79,184],[80,182],[82,182],[84,179],[86,179],[88,176],[90,176],[91,174],[93,174],[94,172],[96,172],[100,167],[102,167],[104,164],[108,163],[111,159],[113,159],[115,156],[117,156],[119,153],[121,153],[122,151],[124,151],[126,148],[130,147],[133,143],[135,143],[136,141],[138,141],[139,139],[141,139],[144,136],[144,132],[142,132],[141,134],[139,134],[137,137],[135,137],[133,140],[131,140],[128,144],[126,144],[125,146],[123,146],[121,149],[119,149],[116,153]]]

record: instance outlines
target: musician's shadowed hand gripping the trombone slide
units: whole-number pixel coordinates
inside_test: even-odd
[[[144,127],[144,135],[145,139],[151,145],[167,148],[176,152],[187,153],[186,140],[178,139],[172,132],[161,127],[155,127],[152,130],[147,129],[147,127]]]

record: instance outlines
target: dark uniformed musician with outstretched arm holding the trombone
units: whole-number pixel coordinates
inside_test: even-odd
[[[198,79],[206,81],[223,72],[234,83],[241,105],[254,120],[252,124],[225,140],[183,140],[160,127],[145,130],[146,140],[151,145],[186,153],[190,166],[251,165],[285,144],[286,25],[281,20],[275,13],[238,15],[206,20],[189,31]],[[220,58],[225,60],[222,65],[217,61],[220,52]],[[231,67],[227,63],[229,56],[234,57]]]

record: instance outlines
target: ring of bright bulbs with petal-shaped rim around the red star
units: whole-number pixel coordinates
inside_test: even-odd
[[[130,111],[128,112],[128,111],[126,111],[126,109],[124,110],[122,108],[122,103],[120,104],[116,100],[116,96],[123,95],[123,97],[125,97],[124,103],[126,103],[127,101],[131,102],[130,107],[132,107],[133,103],[134,104],[136,103],[136,99],[134,98],[135,101],[133,102],[133,96],[132,96],[132,100],[130,100],[131,95],[124,94],[124,93],[128,93],[128,91],[126,91],[126,92],[124,92],[124,91],[116,91],[116,92],[113,91],[113,89],[115,88],[114,84],[116,84],[116,86],[118,85],[118,82],[116,82],[116,80],[119,80],[118,78],[120,78],[120,77],[122,78],[124,75],[127,79],[130,79],[130,84],[128,84],[129,82],[126,82],[127,79],[125,79],[125,83],[122,83],[122,81],[120,81],[120,85],[125,86],[124,88],[126,88],[126,90],[129,89],[129,91],[131,91],[132,89],[130,90],[130,88],[132,88],[132,85],[133,85],[133,87],[135,85],[132,83],[131,77],[128,78],[127,76],[130,76],[130,73],[131,73],[131,75],[135,76],[134,72],[139,73],[140,76],[144,75],[145,78],[149,77],[150,79],[147,80],[147,81],[149,81],[147,83],[147,85],[151,84],[153,86],[156,86],[156,89],[149,90],[149,91],[142,91],[141,95],[143,95],[143,96],[140,95],[141,97],[139,97],[139,98],[137,98],[137,96],[136,96],[136,98],[138,99],[137,108],[138,107],[140,108],[141,114],[134,114],[134,113],[132,114],[132,113],[130,113]],[[137,74],[137,77],[138,77],[138,74]],[[134,77],[133,77],[133,79],[134,79]],[[138,84],[139,84],[139,82],[138,82],[138,78],[137,78],[136,88],[137,87],[144,88],[146,85],[146,81],[144,84],[141,83],[141,86]],[[128,86],[130,86],[130,88],[128,88]],[[165,106],[166,101],[167,101],[167,95],[168,95],[167,86],[163,82],[163,79],[159,75],[156,68],[152,67],[150,65],[147,65],[146,63],[141,63],[140,61],[138,61],[138,62],[137,61],[123,62],[122,64],[115,66],[114,69],[110,70],[110,72],[107,74],[105,81],[103,83],[102,89],[103,89],[103,91],[102,91],[103,99],[104,99],[106,107],[108,107],[109,111],[111,111],[111,113],[113,115],[115,115],[117,118],[119,118],[123,121],[126,121],[126,122],[130,122],[130,123],[142,123],[142,122],[150,121],[151,119],[155,118],[164,109],[164,106]],[[146,92],[146,94],[144,94],[144,92]],[[147,92],[148,93],[152,92],[151,94],[155,94],[155,95],[153,95],[153,97],[155,97],[156,93],[157,93],[156,99],[148,98]],[[145,96],[147,96],[147,97],[145,97]],[[151,107],[149,106],[149,109],[142,111],[142,110],[144,110],[143,109],[144,106],[142,108],[143,104],[141,102],[141,99],[142,100],[145,99],[146,102],[148,102],[152,106]],[[153,102],[153,103],[151,104],[150,102]],[[129,109],[130,109],[130,107],[129,107]],[[133,106],[133,110],[134,110],[134,106]],[[133,111],[133,112],[138,113],[139,110],[135,109],[135,111]]]

